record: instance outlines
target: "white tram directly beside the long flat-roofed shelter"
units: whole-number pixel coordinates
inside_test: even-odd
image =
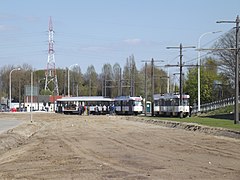
[[[114,98],[116,114],[138,115],[143,112],[142,97],[118,96]]]

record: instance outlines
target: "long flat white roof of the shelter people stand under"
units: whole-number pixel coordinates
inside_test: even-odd
[[[77,97],[63,97],[57,101],[112,101],[111,98],[103,96],[77,96]]]

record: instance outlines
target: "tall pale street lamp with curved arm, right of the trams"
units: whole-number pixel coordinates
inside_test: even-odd
[[[222,31],[213,31],[213,32],[203,33],[198,39],[198,49],[201,48],[201,39],[202,39],[203,36],[205,36],[207,34],[215,34],[215,33],[219,33],[219,32],[222,32]],[[200,66],[201,66],[201,64],[200,64],[200,58],[201,58],[201,52],[198,51],[198,63],[197,63],[197,65],[198,65],[198,112],[201,111],[201,107],[200,107],[201,106],[201,102],[200,102],[201,101],[201,93],[200,93],[200,88],[201,88],[201,86],[200,86]]]

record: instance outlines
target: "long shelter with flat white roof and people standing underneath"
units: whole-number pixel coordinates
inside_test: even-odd
[[[63,97],[57,99],[57,113],[64,114],[108,114],[111,98],[102,96]]]

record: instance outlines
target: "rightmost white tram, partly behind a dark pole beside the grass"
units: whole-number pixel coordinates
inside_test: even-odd
[[[182,95],[182,106],[180,105],[180,95],[167,93],[164,95],[154,95],[154,115],[156,116],[180,116],[190,115],[189,98],[187,94]]]

